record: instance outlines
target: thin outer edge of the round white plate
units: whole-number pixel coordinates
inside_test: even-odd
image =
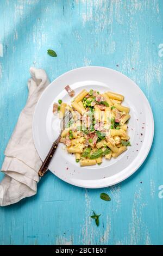
[[[48,86],[45,88],[45,90],[43,90],[41,96],[39,97],[39,100],[37,101],[36,106],[35,106],[35,109],[34,109],[33,120],[32,120],[32,135],[33,135],[33,141],[34,141],[35,149],[36,149],[36,143],[35,143],[35,139],[36,139],[36,138],[35,138],[35,135],[34,135],[34,119],[35,119],[35,115],[36,115],[36,109],[37,109],[37,107],[39,106],[39,101],[40,101],[41,98],[43,97],[43,94],[45,94],[46,90],[49,88],[49,86],[51,86],[52,83],[55,82],[55,80],[58,80],[58,79],[61,78],[62,76],[66,75],[66,74],[68,74],[68,73],[70,73],[70,72],[79,70],[79,69],[89,69],[89,68],[98,68],[98,69],[106,69],[106,70],[114,71],[114,72],[117,72],[117,74],[120,74],[120,75],[124,76],[125,78],[127,78],[128,80],[130,80],[131,83],[134,83],[135,86],[136,86],[139,90],[141,90],[141,93],[142,93],[143,96],[145,97],[146,103],[147,103],[147,105],[148,105],[148,109],[149,109],[149,112],[150,112],[150,115],[151,115],[151,118],[152,118],[152,136],[151,136],[151,142],[150,142],[149,147],[148,147],[148,151],[146,152],[145,155],[143,155],[142,160],[141,160],[139,166],[137,166],[136,168],[132,168],[132,169],[133,169],[132,172],[129,172],[124,178],[119,178],[119,179],[118,179],[117,181],[115,181],[115,182],[110,182],[109,185],[108,185],[108,184],[103,184],[103,185],[100,185],[100,184],[99,184],[98,186],[93,186],[93,187],[92,187],[92,186],[82,186],[82,185],[80,185],[80,184],[75,184],[71,179],[70,179],[69,181],[68,181],[68,180],[65,180],[65,179],[62,179],[61,177],[59,177],[58,175],[56,175],[55,173],[53,173],[53,172],[50,170],[55,176],[57,176],[57,178],[59,178],[59,179],[62,180],[62,181],[65,181],[67,184],[71,184],[71,185],[74,185],[74,186],[77,186],[77,187],[95,189],[95,188],[110,187],[110,186],[119,184],[120,182],[122,182],[122,181],[128,179],[131,175],[133,175],[133,174],[136,172],[137,169],[139,169],[139,168],[141,167],[141,165],[143,164],[143,162],[145,162],[145,160],[146,160],[146,158],[147,158],[147,156],[148,156],[148,154],[149,154],[149,151],[151,150],[151,147],[152,147],[153,138],[154,138],[154,117],[153,117],[153,112],[152,112],[151,105],[149,104],[149,101],[148,101],[148,99],[147,99],[145,93],[143,93],[142,89],[141,89],[133,80],[131,80],[130,77],[124,75],[124,74],[123,74],[122,72],[120,72],[120,71],[117,71],[117,70],[115,70],[115,69],[108,68],[108,67],[106,67],[106,66],[81,66],[81,67],[79,67],[79,68],[71,69],[71,70],[69,70],[69,71],[66,71],[64,74],[61,74],[60,76],[56,77],[51,83],[48,84]],[[37,149],[36,149],[36,151],[37,151]],[[37,151],[37,154],[39,155],[39,152],[38,152],[38,151]],[[40,155],[39,155],[39,157],[40,157]],[[40,157],[40,159],[41,159],[41,157]],[[113,176],[114,176],[114,175],[113,175]]]

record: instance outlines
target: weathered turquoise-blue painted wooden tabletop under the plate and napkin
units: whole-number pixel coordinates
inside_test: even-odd
[[[163,1],[1,0],[0,31],[1,164],[26,103],[30,66],[51,81],[86,65],[118,70],[143,90],[155,119],[152,149],[133,176],[89,190],[49,172],[36,196],[0,209],[0,244],[162,245]],[[99,227],[92,209],[101,214]]]

